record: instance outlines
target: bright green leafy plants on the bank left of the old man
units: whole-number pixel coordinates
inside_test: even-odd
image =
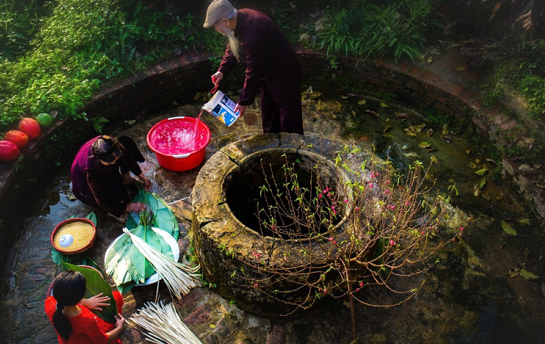
[[[224,47],[195,15],[168,5],[150,10],[137,0],[58,0],[38,8],[36,0],[11,0],[2,10],[2,131],[22,116],[52,110],[86,120],[83,105],[101,85],[188,50]],[[103,123],[93,124],[100,130]]]

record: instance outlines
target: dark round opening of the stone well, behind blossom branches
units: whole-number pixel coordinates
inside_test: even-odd
[[[226,176],[223,188],[230,212],[248,229],[261,236],[309,239],[328,232],[328,227],[313,223],[302,212],[293,210],[293,206],[300,204],[298,199],[304,199],[303,203],[315,214],[321,209],[330,215],[337,209],[333,225],[338,226],[344,214],[339,212],[338,205],[333,210],[332,207],[338,199],[335,193],[342,189],[339,188],[340,182],[333,161],[324,156],[305,150],[296,152],[275,148],[250,154],[239,168]],[[326,188],[330,191],[324,193]],[[318,198],[318,194],[323,196]],[[276,208],[284,210],[275,214],[268,212],[268,209]],[[294,222],[294,216],[302,221]],[[319,218],[315,220],[319,221]]]

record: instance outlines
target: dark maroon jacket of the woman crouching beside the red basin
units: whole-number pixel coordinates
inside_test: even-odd
[[[83,203],[121,216],[126,209],[123,202],[130,200],[124,190],[119,170],[121,173],[130,170],[135,175],[141,174],[142,170],[130,150],[126,148],[121,148],[123,154],[115,164],[108,166],[101,164],[91,152],[92,143],[98,137],[87,141],[76,154],[70,169],[72,192]]]

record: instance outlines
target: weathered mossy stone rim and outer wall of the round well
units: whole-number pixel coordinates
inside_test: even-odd
[[[293,305],[286,305],[270,298],[259,288],[233,282],[237,280],[237,277],[233,276],[241,270],[247,276],[251,276],[252,272],[248,272],[248,265],[244,263],[244,259],[250,259],[252,250],[256,250],[257,247],[275,247],[279,245],[280,240],[261,236],[255,230],[246,227],[230,212],[223,187],[224,182],[228,182],[225,179],[230,178],[233,170],[244,165],[248,156],[255,157],[259,152],[273,149],[304,152],[303,154],[317,154],[332,162],[335,152],[345,144],[317,135],[260,134],[230,143],[208,159],[201,168],[193,188],[192,232],[195,254],[201,264],[204,279],[216,288],[218,294],[225,299],[235,300],[237,305],[247,312],[269,318],[290,314],[295,308]],[[341,180],[339,176],[337,178]],[[342,227],[346,217],[345,215],[336,227]],[[284,241],[284,245],[286,242]],[[283,249],[285,247],[283,246]],[[271,252],[278,252],[277,248],[271,249]],[[275,254],[270,254],[270,257],[272,256]],[[275,258],[278,260],[277,256]],[[320,301],[304,315],[321,312],[328,305],[330,302]],[[301,314],[295,312],[292,315]]]

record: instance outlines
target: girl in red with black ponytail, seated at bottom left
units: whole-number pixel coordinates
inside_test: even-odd
[[[79,272],[61,272],[53,281],[53,296],[46,299],[46,313],[57,331],[60,344],[121,343],[125,319],[117,314],[115,324],[106,323],[90,310],[108,306],[108,296],[98,294],[83,299],[86,291],[85,276]],[[123,296],[113,292],[117,309],[123,306]]]

